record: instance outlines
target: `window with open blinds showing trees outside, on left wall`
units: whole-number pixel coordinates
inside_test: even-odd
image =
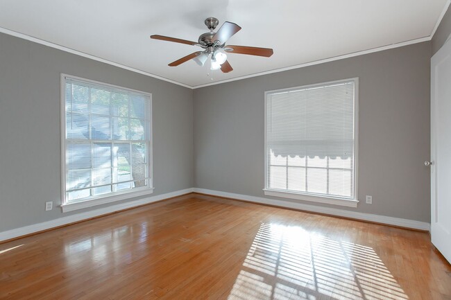
[[[151,193],[150,94],[62,75],[62,109],[63,211]]]

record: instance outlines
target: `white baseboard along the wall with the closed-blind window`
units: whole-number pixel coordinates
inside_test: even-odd
[[[357,211],[346,211],[344,209],[332,209],[330,207],[314,206],[309,204],[302,204],[296,202],[288,202],[282,200],[274,200],[264,197],[255,197],[249,195],[241,195],[235,193],[227,193],[221,191],[212,191],[205,188],[194,188],[194,193],[202,193],[207,195],[214,195],[219,197],[226,197],[231,199],[243,200],[248,202],[255,202],[261,204],[269,204],[275,206],[287,207],[289,209],[299,209],[301,211],[312,211],[314,213],[325,213],[327,215],[337,215],[339,217],[352,218],[357,220],[365,220],[370,222],[377,222],[381,224],[389,224],[399,227],[430,230],[430,224],[427,222],[420,222],[415,220],[408,220],[402,218],[387,217],[385,215],[373,215],[371,213],[359,213]]]

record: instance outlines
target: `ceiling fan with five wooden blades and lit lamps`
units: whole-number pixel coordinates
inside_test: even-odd
[[[187,41],[186,39],[177,39],[175,37],[166,37],[164,35],[151,35],[151,39],[161,39],[168,42],[176,42],[180,44],[187,44],[192,46],[201,46],[203,51],[196,51],[191,53],[175,62],[169,64],[170,67],[176,67],[179,64],[187,62],[188,60],[194,60],[198,65],[203,66],[210,56],[211,69],[221,69],[223,73],[232,71],[227,61],[226,53],[248,54],[264,56],[269,58],[273,55],[273,49],[271,48],[258,48],[249,46],[235,46],[226,45],[226,42],[232,35],[235,35],[241,27],[235,23],[226,21],[219,30],[214,33],[213,30],[218,26],[219,20],[214,17],[205,19],[205,25],[210,29],[210,33],[203,33],[199,36],[198,42]]]

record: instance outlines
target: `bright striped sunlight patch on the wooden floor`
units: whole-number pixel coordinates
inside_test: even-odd
[[[262,224],[228,300],[407,300],[371,247]]]

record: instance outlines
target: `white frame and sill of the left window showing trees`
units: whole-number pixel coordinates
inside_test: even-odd
[[[94,85],[100,85],[100,86],[106,86],[106,87],[112,87],[113,89],[121,89],[126,91],[131,91],[134,93],[143,94],[149,97],[149,108],[151,109],[151,112],[149,112],[149,124],[150,128],[149,134],[150,139],[148,141],[148,186],[136,189],[135,191],[132,190],[126,190],[126,191],[119,191],[119,192],[113,192],[108,193],[106,195],[99,195],[96,197],[91,197],[90,199],[83,200],[80,202],[67,202],[66,200],[66,154],[67,154],[67,140],[66,140],[66,95],[65,95],[65,80],[66,78],[74,79],[74,80],[80,80],[88,83],[92,83]],[[71,76],[67,75],[65,73],[61,73],[60,75],[60,139],[61,139],[61,199],[62,199],[62,212],[66,213],[68,211],[75,211],[77,209],[85,209],[87,207],[92,207],[96,205],[101,204],[108,204],[111,202],[116,202],[120,200],[126,200],[130,199],[132,197],[139,197],[142,195],[150,195],[153,193],[153,125],[152,125],[152,94],[147,93],[145,91],[137,91],[135,89],[128,89],[126,87],[119,87],[117,85],[110,85],[105,82],[99,82],[95,80],[90,80],[87,78],[80,78],[77,76]]]

